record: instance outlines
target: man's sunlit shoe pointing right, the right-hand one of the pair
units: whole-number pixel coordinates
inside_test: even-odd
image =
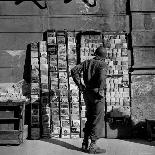
[[[106,153],[105,149],[101,149],[96,145],[96,143],[91,143],[88,150],[89,154],[100,154],[100,153]]]

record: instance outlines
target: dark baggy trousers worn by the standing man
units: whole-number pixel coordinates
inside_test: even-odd
[[[102,136],[104,127],[105,98],[99,97],[93,90],[85,90],[83,98],[86,105],[85,127],[83,129],[84,139],[90,138],[96,141]]]

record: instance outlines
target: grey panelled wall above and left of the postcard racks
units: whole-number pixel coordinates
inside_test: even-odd
[[[44,5],[44,1],[39,3]],[[0,70],[3,73],[0,83],[23,78],[27,44],[42,40],[47,29],[129,31],[126,0],[97,0],[97,6],[93,8],[82,0],[72,0],[68,4],[64,4],[64,0],[48,0],[47,5],[47,9],[41,10],[32,1],[19,5],[15,5],[15,1],[0,1]],[[21,50],[22,59],[16,60],[16,56],[8,54],[7,50]],[[12,63],[12,60],[15,61]]]

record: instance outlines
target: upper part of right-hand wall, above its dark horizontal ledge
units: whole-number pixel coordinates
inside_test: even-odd
[[[130,9],[134,67],[151,68],[155,66],[155,61],[151,59],[151,55],[154,58],[155,48],[155,1],[131,0]],[[140,66],[140,64],[142,65]]]

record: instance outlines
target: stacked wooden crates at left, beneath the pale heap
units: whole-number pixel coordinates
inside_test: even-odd
[[[21,144],[28,135],[25,102],[0,102],[0,144]]]

